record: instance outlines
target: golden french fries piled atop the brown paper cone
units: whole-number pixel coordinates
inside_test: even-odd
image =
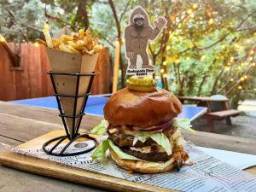
[[[80,29],[79,32],[72,32],[70,36],[63,34],[61,39],[52,39],[49,35],[49,26],[44,26],[44,37],[46,42],[40,40],[40,44],[73,54],[94,55],[102,49],[102,44],[98,44],[98,38],[92,37],[90,28],[86,31]]]

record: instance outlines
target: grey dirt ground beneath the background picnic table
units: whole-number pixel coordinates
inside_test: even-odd
[[[214,121],[215,132],[236,137],[246,137],[256,140],[256,117],[253,116],[237,116],[231,118],[232,125],[226,125],[225,120]],[[198,119],[192,123],[193,128],[199,131],[209,131],[207,121]]]

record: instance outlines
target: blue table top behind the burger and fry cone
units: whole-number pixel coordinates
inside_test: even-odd
[[[13,101],[17,104],[38,106],[42,108],[58,108],[55,96],[34,98],[34,99],[24,99]],[[103,108],[108,102],[108,97],[102,96],[89,96],[85,113],[92,113],[97,115],[103,115]],[[200,117],[202,114],[207,112],[207,108],[195,107],[189,105],[183,105],[183,112],[178,115],[180,118],[188,118],[191,121]]]

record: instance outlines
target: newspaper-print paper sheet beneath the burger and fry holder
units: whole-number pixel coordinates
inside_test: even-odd
[[[90,141],[87,142],[90,146]],[[129,174],[117,166],[112,160],[101,163],[92,160],[88,154],[71,157],[55,157],[45,154],[41,147],[38,148],[11,148],[19,154],[26,154],[40,159],[52,160],[68,166],[79,167],[92,172],[119,177],[136,183],[146,183],[166,189],[177,189],[186,192],[252,192],[256,191],[256,177],[243,172],[235,166],[230,166],[211,155],[205,154],[194,144],[188,143],[184,148],[189,153],[193,166],[183,166],[179,172],[166,172],[160,174]],[[58,148],[57,150],[60,150]],[[76,143],[69,150],[76,151]]]

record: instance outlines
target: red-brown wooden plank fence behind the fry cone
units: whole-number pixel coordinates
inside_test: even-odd
[[[9,46],[15,49],[15,44],[9,43]],[[20,67],[13,67],[6,49],[0,43],[0,100],[52,96],[52,85],[47,75],[49,61],[45,47],[26,43],[18,46]],[[99,53],[96,73],[92,94],[109,93],[112,75],[108,48],[102,49]]]

